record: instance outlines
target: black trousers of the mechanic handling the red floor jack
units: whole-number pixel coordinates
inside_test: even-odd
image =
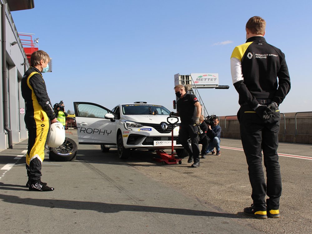
[[[194,163],[199,162],[199,136],[197,134],[197,126],[193,124],[180,124],[178,141],[188,151],[190,156],[193,155]],[[191,139],[191,147],[188,144],[188,139]]]

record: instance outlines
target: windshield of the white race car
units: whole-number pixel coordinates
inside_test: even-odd
[[[161,105],[127,104],[122,105],[124,115],[169,115],[170,111]]]

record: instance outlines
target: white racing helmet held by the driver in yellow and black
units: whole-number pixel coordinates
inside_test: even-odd
[[[50,131],[46,138],[46,144],[52,148],[59,147],[65,141],[65,129],[63,124],[56,122],[50,125]]]

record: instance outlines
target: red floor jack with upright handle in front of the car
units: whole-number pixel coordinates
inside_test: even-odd
[[[176,121],[175,121],[176,120]],[[174,122],[175,121],[175,122]],[[160,156],[160,158],[154,158],[155,161],[160,162],[161,164],[181,164],[182,160],[180,158],[175,158],[173,153],[173,128],[174,124],[178,123],[179,118],[176,116],[167,117],[167,122],[171,125],[171,155],[167,154],[163,150],[156,150],[156,154]]]

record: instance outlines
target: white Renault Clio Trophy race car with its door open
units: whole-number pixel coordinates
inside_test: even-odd
[[[79,144],[100,144],[102,152],[117,148],[119,158],[133,149],[171,149],[170,111],[162,105],[135,102],[109,110],[90,102],[74,102]],[[173,125],[173,146],[177,155],[186,151],[178,143],[179,123]]]

